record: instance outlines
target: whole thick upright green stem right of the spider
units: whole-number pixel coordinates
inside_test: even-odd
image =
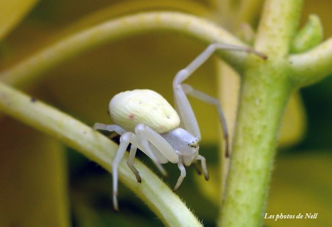
[[[279,125],[293,89],[288,55],[301,1],[266,1],[255,48],[266,62],[248,61],[242,78],[238,120],[221,226],[260,226],[273,168]]]

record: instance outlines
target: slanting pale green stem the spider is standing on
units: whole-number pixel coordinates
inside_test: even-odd
[[[111,160],[113,160],[117,145],[73,117],[45,105],[39,100],[35,102],[28,95],[3,83],[0,83],[0,110],[37,130],[58,138],[106,170],[111,171]],[[141,175],[142,183],[137,183],[134,174],[126,165],[127,158],[128,156],[119,166],[121,182],[135,192],[165,225],[201,226],[180,198],[138,160],[135,161],[135,166]]]

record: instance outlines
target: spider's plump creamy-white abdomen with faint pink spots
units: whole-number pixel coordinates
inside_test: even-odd
[[[159,93],[135,89],[116,94],[109,103],[109,113],[115,124],[134,132],[139,123],[157,133],[177,128],[180,118],[174,108]]]

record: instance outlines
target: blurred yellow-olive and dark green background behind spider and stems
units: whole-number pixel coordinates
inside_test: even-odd
[[[230,2],[234,11],[241,3]],[[262,1],[255,1],[255,4],[259,11]],[[236,31],[231,28],[236,19],[225,19],[218,11],[223,11],[218,8],[222,1],[218,4],[218,1],[203,0],[46,0],[13,1],[12,8],[10,5],[0,2],[0,9],[4,9],[0,20],[9,24],[5,28],[5,23],[0,23],[0,29],[8,31],[0,41],[2,70],[66,34],[128,13],[181,11],[207,17]],[[322,20],[325,39],[332,36],[331,7],[332,3],[322,0],[305,1],[301,24],[310,13],[316,13]],[[17,23],[25,12],[27,15]],[[258,18],[259,14],[255,14],[247,22],[255,27]],[[49,70],[41,81],[26,88],[26,92],[89,125],[110,123],[108,102],[123,90],[153,89],[173,104],[171,85],[175,73],[203,48],[200,43],[179,34],[128,37]],[[226,83],[227,75],[223,75],[225,80],[218,78],[216,65],[216,59],[212,58],[188,83],[210,95],[222,93],[227,113],[229,106],[236,106],[236,99],[225,97],[222,90],[234,90],[238,85]],[[264,220],[266,226],[332,226],[331,88],[332,77],[328,77],[301,89],[301,98],[292,99],[284,117],[266,211],[274,215],[318,213],[318,219]],[[214,108],[191,101],[202,131],[200,153],[207,159],[210,181],[205,182],[190,167],[177,193],[205,226],[215,226],[219,209],[220,128]],[[163,225],[121,184],[118,195],[121,211],[113,212],[110,174],[75,150],[9,117],[1,116],[0,129],[0,226]],[[154,168],[144,155],[138,154],[137,158]],[[179,170],[174,164],[166,164],[165,168],[170,177],[164,181],[173,186]]]

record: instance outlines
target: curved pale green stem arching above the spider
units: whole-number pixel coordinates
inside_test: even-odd
[[[171,12],[139,13],[110,20],[70,35],[5,70],[0,74],[0,80],[11,85],[22,85],[32,79],[36,80],[43,71],[92,47],[156,30],[178,32],[204,43],[219,42],[245,46],[227,31],[196,16]],[[218,54],[238,70],[243,69],[247,58],[244,53],[219,51]]]

